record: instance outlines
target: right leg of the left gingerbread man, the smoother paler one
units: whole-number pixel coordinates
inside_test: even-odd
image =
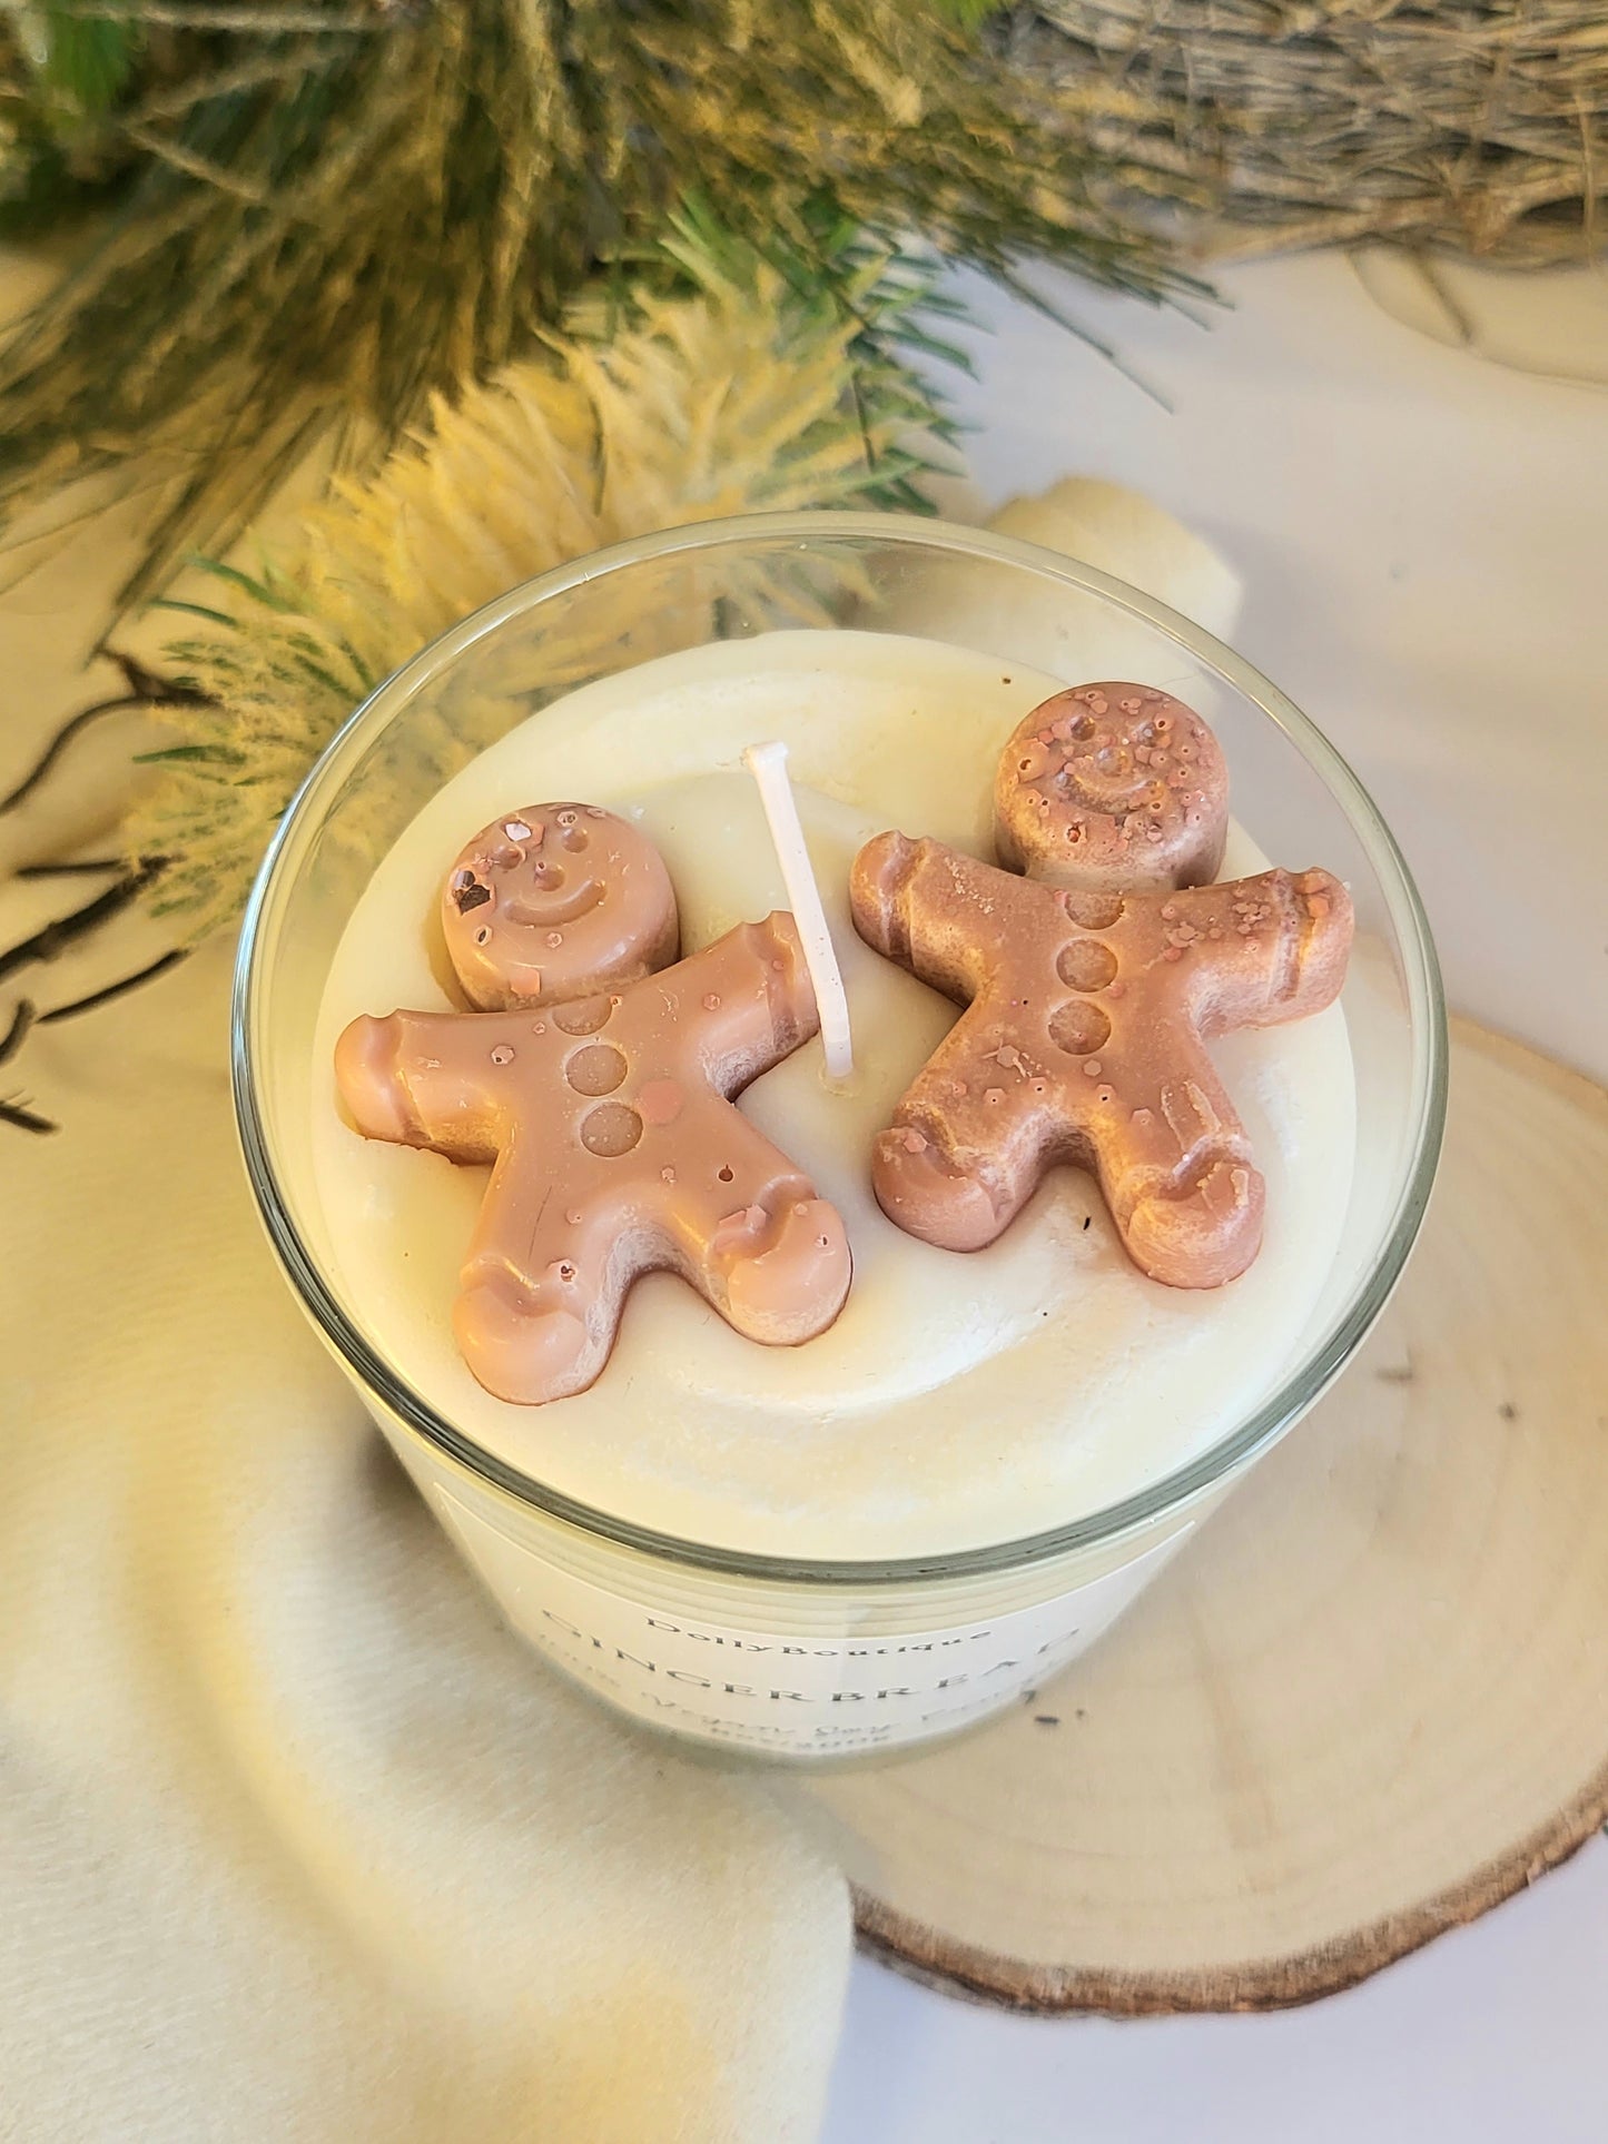
[[[748,1340],[808,1340],[849,1293],[836,1207],[731,1102],[714,1102],[686,1141],[667,1226],[686,1278]]]

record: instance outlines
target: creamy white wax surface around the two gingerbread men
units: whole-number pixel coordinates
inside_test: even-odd
[[[1299,1353],[1336,1254],[1355,1147],[1340,1008],[1214,1048],[1267,1177],[1267,1237],[1226,1289],[1145,1280],[1093,1183],[1055,1171],[988,1250],[920,1244],[879,1211],[868,1151],[956,1008],[873,954],[849,862],[883,828],[988,855],[999,748],[1059,680],[933,641],[774,632],[587,686],[482,753],[373,875],[326,986],[313,1164],[332,1280],[397,1372],[478,1445],[555,1490],[686,1539],[787,1557],[918,1557],[1014,1539],[1132,1494],[1237,1421]],[[446,1008],[435,926],[461,843],[521,804],[639,817],[686,952],[785,907],[746,746],[780,738],[853,1016],[855,1072],[810,1042],[757,1081],[748,1115],[843,1214],[855,1278],[798,1349],[733,1334],[656,1274],[598,1383],[510,1406],[474,1383],[448,1314],[485,1171],[358,1136],[334,1038],[358,1012]],[[1224,877],[1263,868],[1235,830]],[[1293,855],[1304,866],[1321,858]]]

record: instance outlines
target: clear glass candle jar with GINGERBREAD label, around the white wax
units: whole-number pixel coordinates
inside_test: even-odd
[[[412,1389],[352,1299],[319,1216],[309,1134],[334,948],[375,864],[446,778],[557,697],[654,656],[845,624],[915,632],[1066,684],[1164,686],[1214,725],[1237,819],[1282,858],[1346,879],[1357,911],[1342,1006],[1361,1136],[1338,1254],[1295,1353],[1267,1366],[1265,1391],[1226,1434],[1104,1509],[1044,1512],[1042,1529],[1016,1539],[881,1561],[678,1537],[485,1449]],[[302,785],[257,879],[236,973],[234,1091],[253,1192],[292,1286],[506,1621],[637,1722],[808,1765],[956,1732],[1038,1685],[1113,1623],[1340,1374],[1428,1201],[1445,1014],[1389,830],[1312,723],[1229,647],[1031,545],[892,515],[776,515],[577,560],[379,686]]]

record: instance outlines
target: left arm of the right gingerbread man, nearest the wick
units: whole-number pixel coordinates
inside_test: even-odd
[[[995,969],[1025,881],[941,840],[877,834],[853,860],[853,926],[875,952],[965,1006]]]

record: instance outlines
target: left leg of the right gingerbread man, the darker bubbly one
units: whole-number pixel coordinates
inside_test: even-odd
[[[967,1014],[928,1057],[870,1156],[883,1214],[943,1250],[982,1250],[1033,1196],[1042,1141],[1025,1098],[1044,1078]]]

